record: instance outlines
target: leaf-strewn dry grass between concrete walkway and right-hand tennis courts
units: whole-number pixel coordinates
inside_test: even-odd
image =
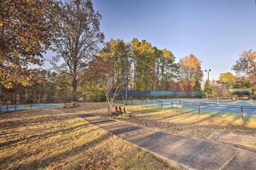
[[[121,106],[120,104],[116,105]],[[105,106],[106,103],[87,103],[70,110],[108,116],[106,115]],[[206,114],[183,113],[178,110],[159,110],[154,107],[138,105],[125,107],[127,110],[132,111],[131,118],[121,119],[116,116],[112,116],[112,118],[162,132],[216,140],[235,147],[248,147],[248,150],[256,150],[255,120],[213,117]]]

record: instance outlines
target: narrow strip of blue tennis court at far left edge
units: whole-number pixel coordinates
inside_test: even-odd
[[[2,112],[33,110],[33,109],[42,109],[42,108],[59,107],[59,106],[64,106],[64,104],[63,103],[44,103],[44,104],[27,104],[27,105],[9,105],[9,106],[2,106]]]

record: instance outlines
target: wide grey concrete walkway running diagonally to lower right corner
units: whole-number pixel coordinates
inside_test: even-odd
[[[118,137],[187,169],[256,169],[256,153],[218,142],[144,129],[91,114],[76,114]]]

